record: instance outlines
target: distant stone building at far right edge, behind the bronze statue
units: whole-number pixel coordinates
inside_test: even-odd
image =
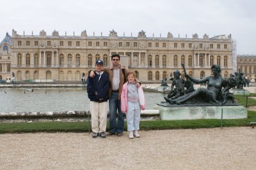
[[[256,81],[256,55],[237,55],[237,71],[242,71],[246,78]]]

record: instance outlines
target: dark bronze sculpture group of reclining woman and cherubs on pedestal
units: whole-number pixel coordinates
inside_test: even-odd
[[[171,92],[165,101],[170,104],[234,104],[234,97],[229,93],[229,89],[236,87],[237,77],[230,76],[225,80],[221,76],[221,68],[217,65],[212,65],[212,76],[206,76],[200,80],[192,78],[186,73],[184,64],[184,76],[180,78],[180,72],[174,71],[175,78],[172,82]],[[207,83],[207,88],[198,88],[194,90],[193,83]],[[173,87],[175,86],[175,89]],[[186,89],[185,89],[186,88]]]

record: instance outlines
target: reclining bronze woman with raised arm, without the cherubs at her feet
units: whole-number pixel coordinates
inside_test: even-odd
[[[187,79],[194,83],[207,83],[207,88],[200,87],[195,91],[188,92],[183,96],[177,97],[176,99],[168,99],[164,97],[166,102],[170,104],[234,104],[234,97],[229,93],[229,89],[236,86],[236,77],[232,76],[228,80],[225,80],[220,73],[220,66],[212,65],[211,71],[212,76],[207,76],[200,80],[192,78],[186,73],[184,64],[184,74]]]

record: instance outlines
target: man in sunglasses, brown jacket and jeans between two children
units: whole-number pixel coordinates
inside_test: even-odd
[[[104,71],[109,74],[109,134],[122,136],[124,132],[125,114],[121,111],[121,92],[124,83],[127,81],[129,70],[120,65],[120,55],[115,53],[111,56],[112,67],[106,67]],[[90,71],[90,77],[93,77]],[[138,81],[137,81],[138,82]],[[140,87],[140,83],[136,84]],[[116,111],[118,119],[116,122]]]

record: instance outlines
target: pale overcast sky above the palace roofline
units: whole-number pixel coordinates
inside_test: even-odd
[[[232,34],[237,42],[237,54],[256,55],[255,0],[8,0],[0,7],[0,41],[12,29],[22,35],[38,35],[44,29],[48,35],[108,36],[114,29],[118,36],[202,38]]]

